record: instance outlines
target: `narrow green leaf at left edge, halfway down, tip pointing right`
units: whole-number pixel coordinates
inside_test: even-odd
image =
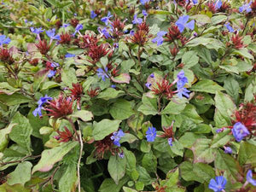
[[[31,99],[21,95],[20,93],[14,93],[13,95],[0,94],[0,102],[8,106],[18,105],[21,103],[30,102]]]

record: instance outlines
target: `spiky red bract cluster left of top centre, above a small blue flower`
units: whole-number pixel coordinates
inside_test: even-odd
[[[90,56],[91,60],[89,60],[92,64],[95,64],[97,61],[100,61],[100,59],[107,55],[110,49],[108,49],[107,44],[101,44],[101,45],[91,45],[87,54]]]

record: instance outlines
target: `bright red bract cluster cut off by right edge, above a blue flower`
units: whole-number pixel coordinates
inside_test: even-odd
[[[256,128],[256,104],[252,102],[242,104],[241,108],[236,111],[235,117],[236,120],[233,120],[233,124],[241,122],[247,127],[248,131],[252,132]]]

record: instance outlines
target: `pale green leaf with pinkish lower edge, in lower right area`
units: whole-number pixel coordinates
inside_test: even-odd
[[[211,163],[215,160],[217,149],[210,148],[211,139],[200,138],[193,144],[191,150],[194,154],[194,162]]]

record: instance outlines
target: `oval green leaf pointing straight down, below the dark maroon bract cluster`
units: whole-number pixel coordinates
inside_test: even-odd
[[[125,176],[125,164],[126,159],[120,158],[119,155],[111,155],[108,160],[108,172],[116,184]]]

